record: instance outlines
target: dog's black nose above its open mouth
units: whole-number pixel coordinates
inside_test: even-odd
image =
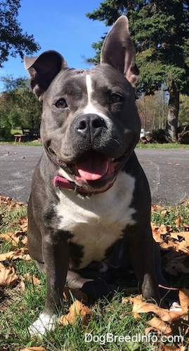
[[[90,135],[91,140],[102,133],[103,128],[107,128],[105,121],[98,114],[84,114],[77,119],[75,130],[83,137]]]

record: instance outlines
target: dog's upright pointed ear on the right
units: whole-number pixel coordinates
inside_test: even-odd
[[[121,16],[107,33],[100,55],[100,63],[115,67],[135,88],[139,71],[136,66],[136,51],[129,33],[129,22]]]

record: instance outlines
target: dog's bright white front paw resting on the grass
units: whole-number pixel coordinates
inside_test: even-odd
[[[39,318],[29,327],[31,336],[42,336],[46,331],[53,331],[56,329],[58,316],[56,314],[41,313]]]

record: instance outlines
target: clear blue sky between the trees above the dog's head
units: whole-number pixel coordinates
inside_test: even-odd
[[[56,50],[61,53],[69,67],[86,67],[85,58],[94,56],[91,47],[107,32],[103,22],[86,18],[86,13],[98,8],[103,0],[21,0],[18,22],[23,32],[33,34],[41,49]],[[34,53],[38,55],[39,53]],[[27,77],[20,56],[9,58],[0,68],[0,91],[3,88],[1,77],[7,75]]]

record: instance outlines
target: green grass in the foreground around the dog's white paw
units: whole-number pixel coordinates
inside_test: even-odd
[[[131,305],[120,303],[120,296],[115,296],[111,303],[107,300],[96,303],[88,326],[83,326],[82,319],[78,318],[73,326],[58,326],[56,331],[47,333],[42,339],[31,339],[27,332],[27,326],[39,315],[42,309],[44,288],[34,290],[32,286],[27,286],[27,293],[22,298],[19,293],[13,293],[13,296],[9,293],[8,302],[7,312],[4,312],[3,317],[1,317],[3,337],[6,337],[4,342],[0,343],[1,347],[11,346],[11,350],[20,350],[24,346],[43,345],[46,350],[52,351],[96,351],[122,350],[121,347],[124,345],[123,350],[152,350],[152,345],[148,343],[131,342],[125,345],[125,343],[106,343],[103,340],[103,336],[106,336],[107,333],[111,333],[113,336],[145,335],[145,323],[142,319],[133,319]],[[68,306],[69,304],[65,302],[65,311]],[[94,336],[95,340],[86,343],[85,338],[89,333]],[[100,340],[96,342],[96,338]]]

